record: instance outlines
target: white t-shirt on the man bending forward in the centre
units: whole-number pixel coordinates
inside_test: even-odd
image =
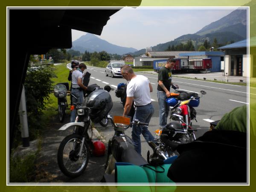
[[[151,103],[149,80],[145,76],[137,75],[127,85],[126,95],[134,97],[134,104],[143,106]]]

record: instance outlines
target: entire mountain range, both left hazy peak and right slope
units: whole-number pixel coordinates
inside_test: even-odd
[[[248,6],[248,5],[245,5]],[[255,8],[253,3],[251,9]],[[227,44],[230,41],[241,41],[247,37],[247,13],[245,9],[236,9],[229,15],[222,17],[221,19],[204,26],[201,30],[195,34],[181,35],[173,41],[169,41],[163,44],[157,44],[152,46],[153,51],[164,51],[168,46],[177,45],[180,43],[186,44],[188,40],[192,40],[193,45],[197,49],[201,44],[204,44],[205,40],[208,40],[212,44],[214,38],[217,39],[219,44]],[[102,40],[96,35],[87,33],[81,36],[76,41],[73,41],[73,47],[71,49],[78,50],[83,53],[85,50],[89,52],[106,51],[111,54],[123,55],[129,53],[131,55],[143,55],[145,49],[134,49],[132,47],[121,47]]]

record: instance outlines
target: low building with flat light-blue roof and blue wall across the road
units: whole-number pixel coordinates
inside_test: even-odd
[[[211,58],[212,59],[212,69],[211,72],[220,72],[221,70],[221,60],[224,60],[224,52],[221,51],[197,51],[197,52],[186,52],[180,53],[179,56],[187,56],[189,59],[198,58]]]

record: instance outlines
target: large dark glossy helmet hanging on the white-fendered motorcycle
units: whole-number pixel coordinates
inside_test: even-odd
[[[94,123],[100,122],[113,107],[110,94],[106,90],[95,90],[84,100],[86,107],[90,108],[90,119]]]

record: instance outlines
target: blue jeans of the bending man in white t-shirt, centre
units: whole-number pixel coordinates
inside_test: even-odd
[[[149,123],[151,117],[154,114],[154,107],[152,104],[140,106],[135,108],[135,114],[134,119],[138,119],[140,122],[146,122]],[[133,125],[132,126],[132,132],[131,132],[131,138],[134,143],[135,150],[138,152],[138,154],[141,154],[141,143],[140,143],[140,134],[143,135],[146,141],[154,141],[154,137],[148,131],[148,128],[143,125]]]

